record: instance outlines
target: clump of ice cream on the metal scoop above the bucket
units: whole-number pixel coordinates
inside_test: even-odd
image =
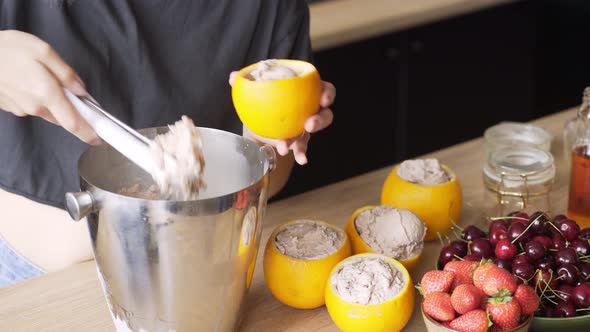
[[[155,168],[152,177],[163,198],[175,200],[195,199],[199,190],[206,187],[203,179],[205,158],[201,134],[187,117],[170,125],[169,131],[150,142],[150,154]],[[170,154],[175,163],[164,158]]]

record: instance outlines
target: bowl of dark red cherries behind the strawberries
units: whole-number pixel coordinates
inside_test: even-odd
[[[485,226],[453,228],[436,267],[452,260],[492,260],[541,299],[531,330],[590,330],[590,228],[563,214],[515,211]]]

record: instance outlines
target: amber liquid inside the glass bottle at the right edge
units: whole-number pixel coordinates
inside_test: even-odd
[[[572,151],[568,216],[581,228],[590,227],[590,146]]]

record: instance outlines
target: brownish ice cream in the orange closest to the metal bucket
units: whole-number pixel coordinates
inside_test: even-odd
[[[298,259],[320,259],[329,256],[342,246],[344,232],[311,220],[287,225],[275,238],[277,249]]]

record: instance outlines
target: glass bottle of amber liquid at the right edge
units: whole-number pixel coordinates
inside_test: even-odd
[[[590,87],[584,89],[571,148],[568,217],[590,227]]]

